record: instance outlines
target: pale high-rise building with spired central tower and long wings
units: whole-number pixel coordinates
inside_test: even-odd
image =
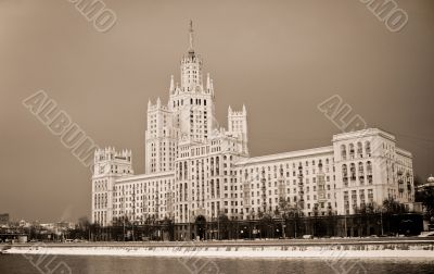
[[[378,128],[336,134],[329,147],[250,157],[245,105],[229,107],[219,127],[213,79],[193,46],[190,25],[180,84],[171,76],[168,102],[148,103],[145,174],[133,174],[131,151],[95,151],[93,223],[166,219],[189,238],[197,217],[252,220],[282,202],[306,216],[354,214],[386,198],[413,202],[412,155]]]

